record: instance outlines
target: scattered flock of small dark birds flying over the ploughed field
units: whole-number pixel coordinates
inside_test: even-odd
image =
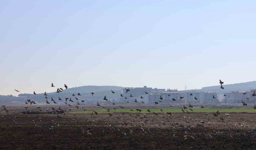
[[[220,83],[220,86],[221,86],[220,88],[224,89],[224,87],[223,87],[224,82],[222,82],[222,81],[220,80],[219,83]],[[51,87],[55,87],[53,83],[51,84]],[[64,87],[65,87],[66,89],[68,89],[68,86],[67,86],[66,84],[64,84]],[[20,91],[18,91],[18,90],[15,90],[15,91],[16,91],[16,92],[20,92]],[[57,88],[57,91],[56,91],[56,92],[57,92],[57,93],[60,93],[60,92],[62,92],[62,91],[63,91],[62,88]],[[126,94],[127,94],[129,91],[130,91],[129,89],[126,89]],[[111,92],[112,92],[113,94],[115,93],[113,90],[111,90]],[[36,95],[36,92],[34,91],[33,94]],[[94,95],[94,92],[91,92],[91,94],[92,94],[92,96],[93,96],[93,95]],[[148,93],[145,92],[145,94],[148,94]],[[244,94],[244,93],[243,93],[243,94]],[[245,94],[246,94],[246,93],[245,93]],[[44,92],[44,96],[45,96],[45,98],[46,98],[46,103],[47,103],[47,104],[50,104],[50,102],[48,101],[48,97],[47,97],[48,95],[47,95],[46,92]],[[76,95],[75,95],[75,94],[72,94],[72,96],[76,96]],[[78,93],[77,96],[81,96],[81,94]],[[122,94],[120,94],[120,96],[123,97]],[[170,96],[170,95],[168,95],[168,96]],[[193,94],[191,93],[190,96],[193,96]],[[225,95],[224,95],[224,96],[225,96]],[[255,91],[253,92],[252,96],[256,96],[256,92],[255,92]],[[130,97],[133,97],[132,94],[130,94]],[[76,97],[74,97],[74,98],[77,100],[77,105],[80,105],[80,103],[78,102],[78,98],[76,98]],[[140,98],[143,99],[142,96],[140,96]],[[183,96],[180,96],[180,100],[182,100],[182,98],[184,98],[184,97],[183,97]],[[215,98],[214,95],[213,95],[212,98]],[[198,100],[198,98],[196,98],[196,97],[194,97],[194,99]],[[62,99],[61,99],[60,97],[58,97],[58,100],[62,100]],[[65,102],[66,105],[72,106],[72,105],[70,105],[70,104],[68,103],[68,101],[74,102],[74,100],[72,100],[72,98],[65,98],[65,100],[66,100],[66,102]],[[104,96],[103,100],[106,100],[106,101],[107,101],[108,99],[107,99],[106,96]],[[162,96],[160,96],[159,102],[162,102],[162,100],[163,100],[163,98],[162,98]],[[172,100],[175,101],[175,98],[172,98]],[[51,101],[53,101],[54,104],[57,103],[53,98],[51,98]],[[84,102],[84,100],[82,100],[81,102]],[[127,102],[128,102],[128,101],[127,101]],[[134,102],[138,102],[138,101],[135,99]],[[142,103],[144,103],[144,102],[142,101]],[[27,100],[27,101],[26,101],[26,104],[32,105],[32,104],[36,104],[36,102],[34,102],[34,101],[32,101],[32,100]],[[112,103],[112,104],[115,105],[115,103]],[[158,104],[158,102],[155,102],[155,104]],[[243,104],[243,106],[247,106],[247,104],[246,104],[245,102],[243,102],[243,101],[242,101],[242,104]],[[79,106],[77,106],[77,105],[76,105],[75,107],[76,107],[76,109],[78,110],[78,109],[79,109]],[[98,107],[98,106],[100,106],[100,104],[97,102],[97,106],[96,106],[96,107]],[[170,106],[171,106],[171,105],[170,105]],[[100,106],[100,107],[105,108],[105,106]],[[122,106],[118,106],[118,107],[124,108],[124,107],[122,107]],[[6,108],[6,106],[3,106],[3,108],[4,108],[4,110],[6,111],[7,115],[9,116],[9,119],[12,120],[12,119],[10,118],[11,114],[8,114],[9,110]],[[28,107],[24,107],[24,108],[25,108],[26,110],[28,110]],[[40,106],[37,106],[37,108],[38,108],[38,110],[42,111]],[[192,106],[191,104],[189,104],[188,107],[186,107],[186,106],[183,105],[183,108],[181,108],[181,110],[182,110],[182,112],[185,112],[185,111],[186,111],[186,113],[190,113],[188,110],[193,111],[192,108],[193,108],[193,106]],[[201,108],[204,108],[204,106],[201,106]],[[84,108],[82,108],[82,109],[85,110]],[[115,108],[114,108],[114,109],[115,109]],[[256,109],[256,106],[254,106],[254,109]],[[58,115],[57,115],[58,118],[63,118],[63,117],[64,117],[64,114],[65,114],[65,112],[66,112],[66,110],[62,110],[60,107],[59,107],[58,109],[52,107],[52,110],[55,111],[55,112],[52,112],[52,113],[58,113]],[[57,110],[58,110],[58,111],[57,111]],[[68,110],[71,110],[71,109],[68,108]],[[107,108],[107,110],[108,110],[108,112],[110,112],[110,109],[109,109],[109,108]],[[49,110],[46,110],[46,111],[49,111]],[[57,112],[56,112],[56,111],[57,111]],[[131,109],[131,111],[134,111],[134,110]],[[142,110],[141,110],[141,109],[136,109],[136,111],[137,111],[137,112],[141,112]],[[148,109],[147,111],[148,111],[148,112],[151,112],[150,109]],[[160,109],[160,111],[161,111],[161,112],[164,112],[162,109]],[[26,113],[27,113],[27,112],[28,112],[28,111],[26,111]],[[25,113],[25,114],[26,114],[26,113]],[[59,115],[60,113],[62,113],[63,116]],[[93,115],[93,114],[98,114],[98,112],[96,112],[96,111],[93,110],[93,112],[92,112],[91,115]],[[144,113],[142,113],[142,114],[144,114]],[[153,114],[158,115],[158,114],[155,113],[155,112],[153,112]],[[164,113],[164,114],[167,114],[168,117],[172,115],[171,113]],[[113,116],[113,114],[110,114],[110,113],[108,113],[108,115],[109,115],[109,117]],[[209,114],[208,114],[208,113],[205,113],[205,115],[208,116]],[[220,112],[217,111],[216,113],[213,113],[213,115],[214,115],[214,116],[218,116],[221,121],[225,122],[223,116],[220,116]],[[229,114],[226,114],[226,115],[230,118]],[[27,116],[28,116],[28,115],[27,115]],[[40,121],[43,120],[43,119],[40,118],[37,114],[36,114],[36,116],[38,117],[38,119],[39,119]],[[74,116],[75,116],[75,114],[74,114]],[[118,117],[120,117],[120,116],[121,116],[121,115],[119,115]],[[130,116],[132,116],[132,115],[130,115]],[[130,118],[130,116],[129,116],[129,118]],[[140,116],[140,115],[137,114],[136,116]],[[135,116],[135,117],[136,117],[136,116]],[[2,117],[3,117],[3,118],[6,118],[6,116],[2,116]],[[28,116],[28,117],[29,117],[29,116]],[[118,118],[118,117],[117,117],[117,118]],[[161,117],[163,118],[163,116],[161,116]],[[186,116],[184,116],[183,114],[182,114],[182,117],[183,117],[183,118],[186,118]],[[18,117],[17,117],[17,116],[14,116],[14,118],[18,118]],[[136,117],[136,118],[137,118],[137,117]],[[141,118],[147,118],[147,117],[146,117],[146,114],[144,114],[144,117],[141,117]],[[119,118],[119,119],[120,119],[120,118]],[[166,119],[168,119],[168,118],[166,118]],[[192,118],[190,118],[190,119],[193,120]],[[14,122],[15,125],[18,124],[15,119],[12,120],[12,121]],[[144,123],[146,123],[147,121],[148,121],[148,120],[146,119],[146,121],[145,121]],[[196,121],[197,121],[197,120],[196,120]],[[35,120],[33,120],[33,122],[35,122]],[[58,126],[59,126],[59,124],[60,124],[60,122],[58,122],[58,121],[56,121],[56,120],[52,120],[52,122],[54,122],[54,124],[57,124]],[[71,122],[71,123],[74,123],[74,122],[78,122],[78,121],[75,120],[75,119],[73,119],[73,120],[70,120],[70,122]],[[186,122],[188,122],[188,120],[187,120]],[[143,122],[142,122],[142,123],[143,123]],[[143,124],[144,124],[144,123],[143,123]],[[162,122],[162,123],[165,124],[164,122]],[[176,123],[176,122],[175,122],[175,123]],[[189,123],[189,122],[188,122],[188,123]],[[203,123],[205,123],[205,122],[201,120],[200,123],[203,124]],[[124,122],[123,124],[127,124],[127,123]],[[92,124],[92,125],[94,125],[94,124]],[[37,126],[37,125],[36,125],[36,126]],[[94,126],[95,126],[95,125],[94,125]],[[113,128],[113,126],[112,126],[112,128]],[[54,126],[51,126],[49,129],[54,129]],[[143,132],[145,132],[144,129],[143,129],[143,126],[140,126],[140,129],[141,129]],[[149,129],[148,129],[148,131],[149,131]],[[103,132],[104,132],[104,131],[103,131]],[[149,131],[149,132],[150,132],[150,131]],[[91,133],[88,132],[88,131],[86,131],[86,133],[87,133],[87,134],[91,134]],[[146,133],[146,132],[145,132],[145,133]],[[128,133],[127,133],[127,132],[126,132],[126,133],[125,133],[125,132],[122,132],[122,134],[126,135],[126,134],[128,134]],[[142,134],[143,134],[143,133],[142,133]],[[184,137],[185,137],[185,138],[188,138],[187,135],[184,136]],[[193,138],[193,139],[195,139],[194,136],[190,136],[190,137]]]

